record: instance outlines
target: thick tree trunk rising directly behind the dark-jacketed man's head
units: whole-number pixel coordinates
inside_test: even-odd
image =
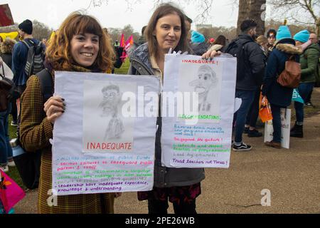
[[[240,25],[246,19],[255,20],[257,35],[265,34],[265,6],[266,0],[239,0],[237,34],[241,33]]]

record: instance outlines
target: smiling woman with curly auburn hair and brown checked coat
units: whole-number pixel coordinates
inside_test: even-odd
[[[74,12],[63,21],[46,50],[45,73],[54,81],[55,71],[106,73],[112,68],[114,50],[107,34],[92,16]],[[39,73],[39,74],[41,74]],[[75,81],[75,83],[77,83]],[[120,194],[81,194],[57,196],[57,206],[47,199],[52,186],[53,125],[68,108],[68,100],[60,96],[43,97],[39,77],[31,76],[21,96],[21,145],[27,151],[41,152],[41,176],[38,212],[41,214],[97,214],[114,212],[114,196]],[[50,88],[51,94],[54,91]],[[45,102],[46,101],[46,102]]]

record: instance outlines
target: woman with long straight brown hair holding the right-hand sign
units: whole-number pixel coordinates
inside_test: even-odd
[[[149,20],[145,31],[147,43],[139,46],[130,56],[128,74],[154,75],[164,78],[164,56],[173,51],[188,51],[184,15],[171,4],[162,4]],[[161,110],[161,108],[159,108]],[[161,115],[159,115],[161,116]],[[201,194],[200,182],[205,178],[203,169],[170,168],[161,165],[161,117],[157,120],[154,189],[138,192],[139,200],[148,200],[150,214],[166,214],[169,202],[175,213],[196,213],[196,197]]]

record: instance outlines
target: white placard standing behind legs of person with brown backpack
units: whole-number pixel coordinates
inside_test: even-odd
[[[289,149],[291,109],[281,108],[280,116],[281,116],[281,146],[286,149]],[[273,139],[273,125],[272,125],[272,120],[270,120],[265,123],[265,142],[270,142],[272,139]]]

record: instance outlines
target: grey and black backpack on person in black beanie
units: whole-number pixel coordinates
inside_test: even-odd
[[[26,61],[26,67],[24,68],[24,72],[28,77],[35,75],[42,71],[45,67],[43,65],[45,58],[45,48],[41,42],[36,45],[31,39],[23,40],[24,43],[28,47],[28,57]]]

